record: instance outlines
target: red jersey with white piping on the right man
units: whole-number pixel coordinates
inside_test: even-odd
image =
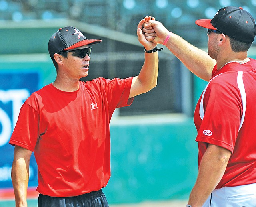
[[[232,152],[226,171],[217,185],[256,183],[256,61],[228,63],[213,70],[195,109],[198,131],[198,162],[207,143]]]

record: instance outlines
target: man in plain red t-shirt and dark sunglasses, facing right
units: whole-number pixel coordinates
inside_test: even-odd
[[[29,160],[34,152],[38,165],[39,207],[107,207],[102,188],[110,178],[110,118],[118,107],[132,104],[136,95],[156,86],[156,43],[145,39],[138,24],[138,40],[145,62],[138,76],[112,80],[97,78],[86,83],[90,45],[77,28],[64,27],[49,40],[48,50],[56,67],[53,83],[34,92],[22,105],[10,139],[15,146],[12,183],[16,207],[27,206]]]

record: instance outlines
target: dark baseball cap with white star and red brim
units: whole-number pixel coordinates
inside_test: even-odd
[[[55,53],[100,42],[102,42],[100,39],[86,39],[86,37],[78,29],[68,26],[60,28],[52,35],[48,42],[48,51],[50,57],[53,59],[53,55]]]

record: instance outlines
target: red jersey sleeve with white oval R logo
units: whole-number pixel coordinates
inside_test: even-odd
[[[196,141],[233,152],[242,116],[242,101],[236,84],[223,81],[223,78],[212,81],[201,100],[204,117]]]

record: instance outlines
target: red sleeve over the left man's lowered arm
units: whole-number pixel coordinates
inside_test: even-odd
[[[23,104],[9,143],[34,151],[38,140],[38,120],[38,112]]]

